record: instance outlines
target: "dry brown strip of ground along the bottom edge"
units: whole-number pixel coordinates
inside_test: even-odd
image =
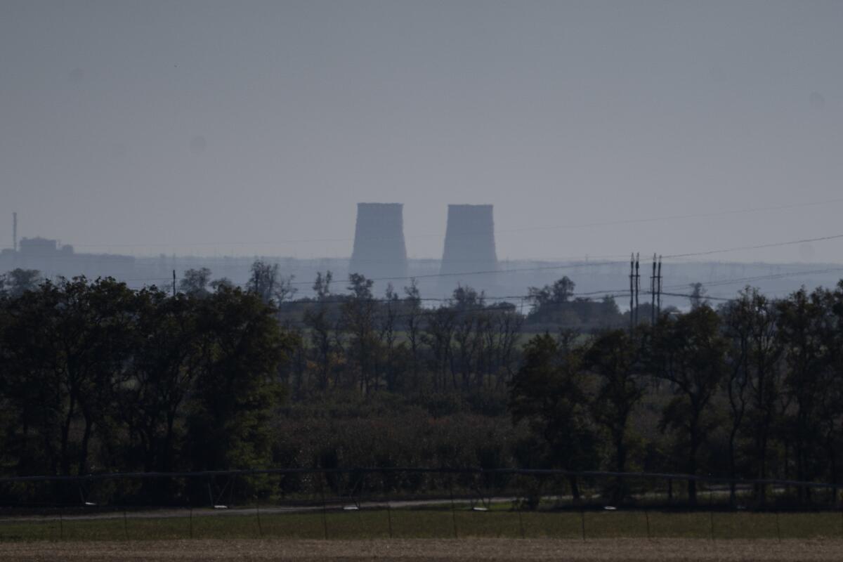
[[[598,539],[380,539],[316,541],[277,539],[127,541],[120,543],[6,543],[0,559],[26,561],[150,560],[418,560],[489,562],[490,560],[575,560],[577,562],[788,560],[819,562],[843,559],[840,540]]]

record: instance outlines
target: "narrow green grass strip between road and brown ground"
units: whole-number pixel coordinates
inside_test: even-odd
[[[0,542],[176,539],[843,539],[843,513],[363,509],[259,514],[196,510],[0,519]]]

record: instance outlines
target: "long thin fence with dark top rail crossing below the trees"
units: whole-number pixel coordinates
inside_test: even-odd
[[[526,469],[0,479],[0,540],[835,537],[836,484]]]

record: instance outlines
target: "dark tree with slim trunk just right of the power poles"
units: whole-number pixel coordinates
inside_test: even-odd
[[[706,417],[725,370],[727,343],[720,318],[701,305],[679,318],[663,317],[652,338],[652,372],[668,383],[674,398],[663,409],[660,427],[685,434],[688,474],[697,474],[699,452],[715,420]],[[696,482],[688,481],[688,500],[696,502]]]

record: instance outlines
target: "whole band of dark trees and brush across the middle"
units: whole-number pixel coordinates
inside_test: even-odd
[[[383,298],[364,276],[345,292],[333,284],[325,272],[313,296],[293,300],[292,278],[260,261],[245,289],[198,270],[175,295],[4,276],[0,471],[516,466],[840,479],[843,283],[781,300],[748,287],[719,308],[696,291],[688,312],[632,332],[617,329],[614,302],[578,300],[566,278],[532,290],[526,317],[468,286],[430,307],[415,283]],[[614,312],[584,319],[600,307]],[[536,318],[557,322],[553,332],[526,337]],[[607,485],[620,503],[626,483]],[[686,492],[695,502],[694,482]]]

